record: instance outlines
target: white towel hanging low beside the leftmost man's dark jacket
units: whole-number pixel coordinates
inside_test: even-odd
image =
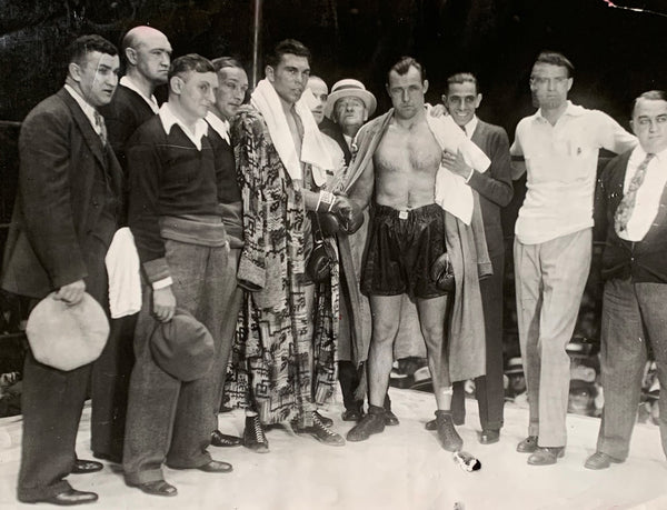
[[[118,319],[141,309],[141,276],[135,237],[128,227],[116,231],[107,257],[109,274],[109,309]]]

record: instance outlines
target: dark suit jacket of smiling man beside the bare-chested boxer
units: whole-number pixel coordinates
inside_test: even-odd
[[[509,203],[514,192],[509,140],[502,128],[482,120],[478,120],[470,139],[491,160],[489,169],[485,173],[475,172],[468,184],[479,193],[487,247],[492,259],[505,251],[500,209]]]

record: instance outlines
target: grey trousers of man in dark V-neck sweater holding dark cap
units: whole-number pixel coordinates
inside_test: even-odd
[[[220,353],[221,307],[227,248],[165,240],[177,307],[190,312],[211,333]],[[182,382],[158,367],[150,353],[152,291],[147,286],[135,334],[137,362],[130,380],[123,470],[130,484],[162,480],[162,462],[198,468],[211,460],[207,447],[217,428],[211,402],[219,374]]]

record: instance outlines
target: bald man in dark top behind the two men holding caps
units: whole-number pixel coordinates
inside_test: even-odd
[[[171,44],[159,30],[135,27],[122,39],[126,74],[111,102],[100,108],[108,140],[127,178],[126,144],[137,128],[158,112],[156,87],[167,83]],[[127,182],[127,179],[126,179]],[[128,189],[125,187],[127,206]],[[123,209],[121,224],[126,223]],[[98,459],[122,460],[126,408],[135,364],[133,333],[137,314],[111,320],[111,332],[92,376],[92,452]]]

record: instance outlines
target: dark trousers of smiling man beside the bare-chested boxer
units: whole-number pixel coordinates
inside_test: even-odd
[[[486,376],[475,379],[475,397],[479,407],[482,429],[502,428],[505,387],[502,383],[502,280],[505,254],[491,257],[494,274],[479,282],[484,309],[486,336]],[[466,419],[465,381],[454,384],[451,413],[454,422],[462,424]]]

